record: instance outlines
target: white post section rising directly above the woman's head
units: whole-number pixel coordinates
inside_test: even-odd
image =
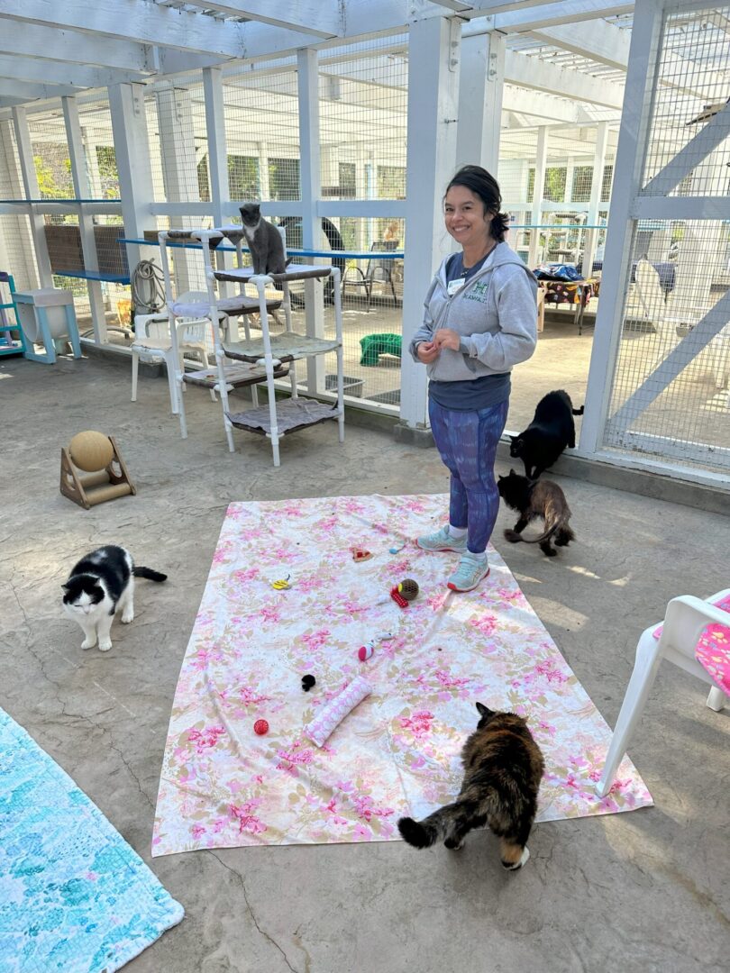
[[[494,177],[499,162],[504,39],[504,34],[490,30],[461,40],[456,164],[478,163]]]

